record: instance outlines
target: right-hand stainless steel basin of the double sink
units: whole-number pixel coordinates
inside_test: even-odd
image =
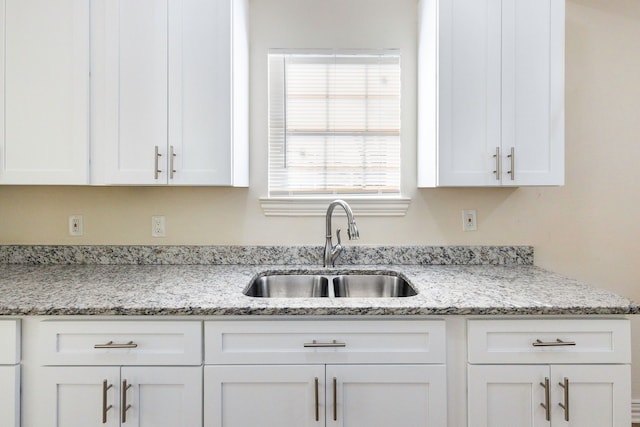
[[[397,298],[417,295],[416,290],[399,276],[382,274],[345,274],[334,277],[336,297]]]

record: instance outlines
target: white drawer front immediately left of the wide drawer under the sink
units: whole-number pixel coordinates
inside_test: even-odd
[[[200,365],[199,321],[42,321],[42,365]]]

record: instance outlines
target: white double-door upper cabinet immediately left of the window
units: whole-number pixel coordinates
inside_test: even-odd
[[[92,183],[248,185],[246,0],[97,0]]]

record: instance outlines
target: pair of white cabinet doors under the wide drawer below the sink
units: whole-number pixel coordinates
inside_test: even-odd
[[[446,426],[445,390],[444,365],[207,366],[205,426]]]

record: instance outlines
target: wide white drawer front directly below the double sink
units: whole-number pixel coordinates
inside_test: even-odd
[[[205,363],[444,363],[445,324],[430,321],[205,322]]]

